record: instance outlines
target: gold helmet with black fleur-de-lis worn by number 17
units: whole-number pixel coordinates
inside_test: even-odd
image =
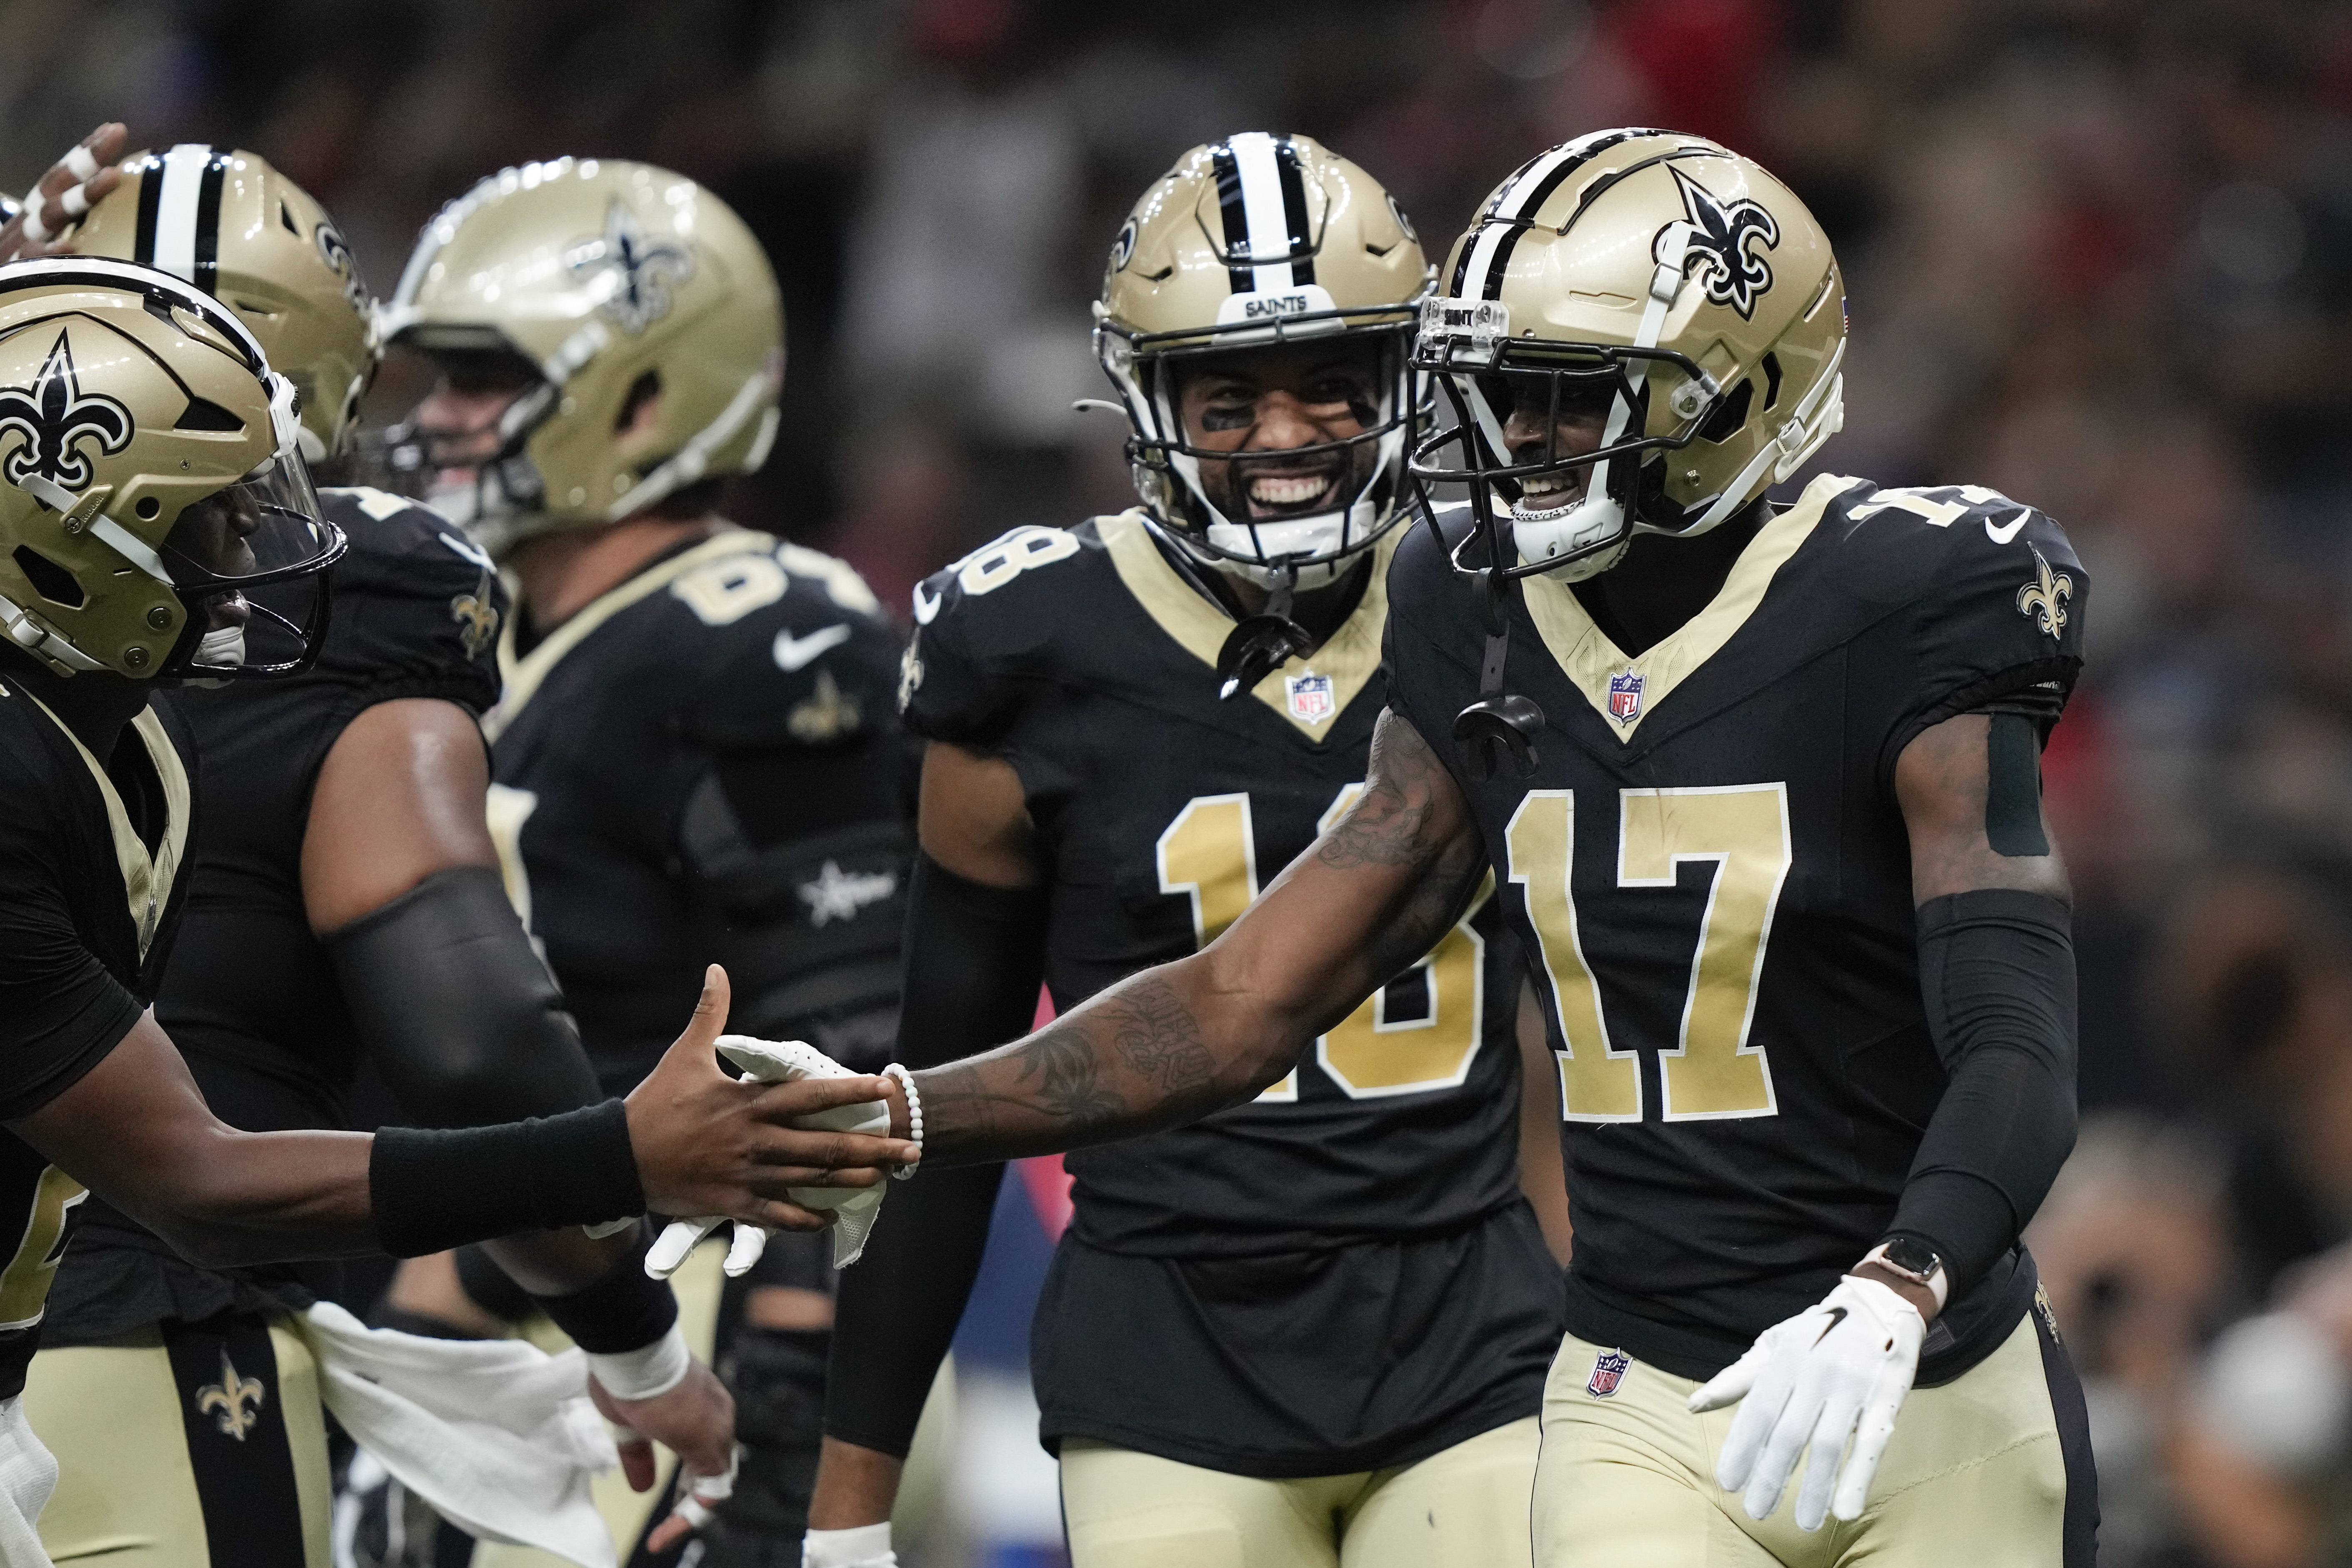
[[[1635,531],[1705,534],[1844,423],[1830,240],[1788,186],[1703,136],[1616,129],[1541,153],[1454,242],[1444,287],[1414,360],[1456,425],[1418,444],[1414,473],[1470,487],[1505,576],[1578,581]],[[1512,407],[1550,409],[1557,433],[1571,402],[1604,402],[1599,449],[1566,456],[1548,435],[1515,461]],[[1461,461],[1442,463],[1446,447]],[[1573,468],[1590,468],[1585,494],[1543,505]]]

